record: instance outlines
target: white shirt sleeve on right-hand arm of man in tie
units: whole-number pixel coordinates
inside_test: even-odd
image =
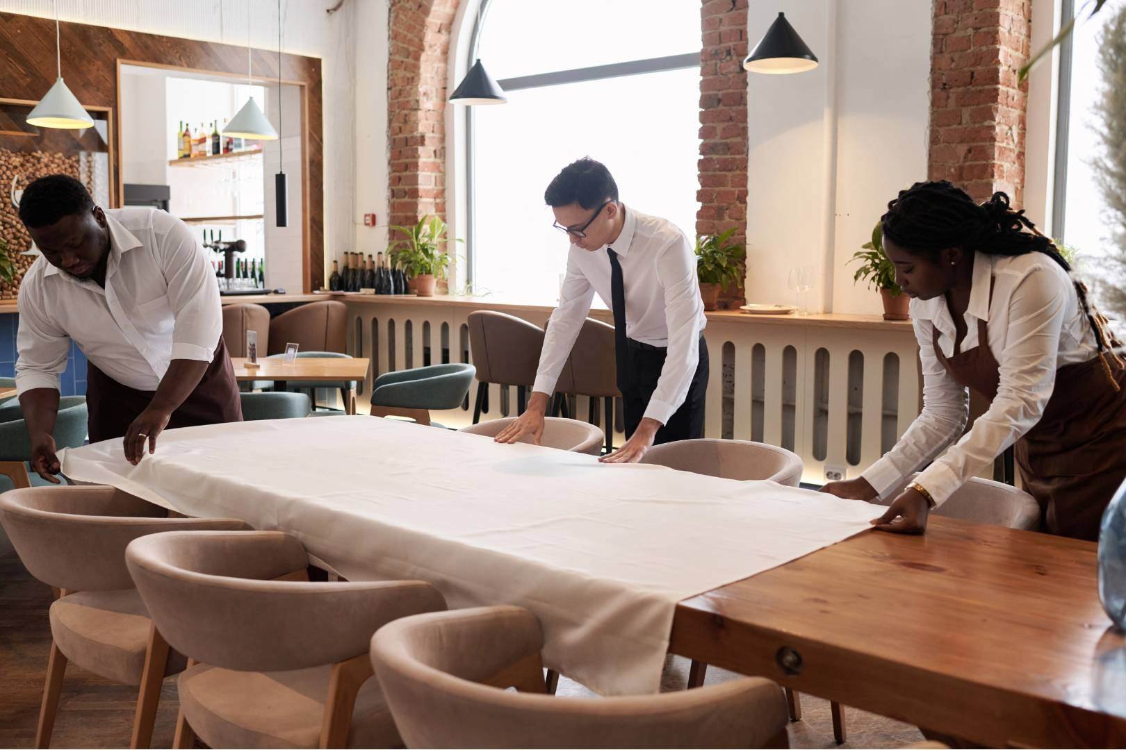
[[[665,424],[688,397],[699,363],[699,338],[704,327],[696,257],[686,236],[681,235],[660,253],[656,275],[664,289],[669,344],[645,416]]]

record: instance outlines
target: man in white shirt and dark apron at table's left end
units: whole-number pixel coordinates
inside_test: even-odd
[[[239,422],[218,287],[188,227],[151,208],[102,209],[65,174],[34,181],[19,218],[43,253],[19,289],[16,389],[32,467],[52,481],[59,376],[86,354],[91,442],[136,464],[166,427]]]

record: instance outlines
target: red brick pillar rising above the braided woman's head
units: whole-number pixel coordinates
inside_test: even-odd
[[[929,178],[977,200],[1024,202],[1030,19],[1031,0],[935,0]]]

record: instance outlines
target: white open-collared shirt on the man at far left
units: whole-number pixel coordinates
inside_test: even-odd
[[[16,388],[59,389],[71,340],[107,376],[153,391],[172,360],[211,362],[223,333],[215,271],[180,219],[106,209],[106,287],[39,256],[19,288]]]

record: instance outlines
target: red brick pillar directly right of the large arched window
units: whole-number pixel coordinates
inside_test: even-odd
[[[700,11],[700,208],[696,233],[736,227],[733,242],[747,244],[747,47],[748,0],[705,0]],[[729,290],[721,306],[742,302]]]

